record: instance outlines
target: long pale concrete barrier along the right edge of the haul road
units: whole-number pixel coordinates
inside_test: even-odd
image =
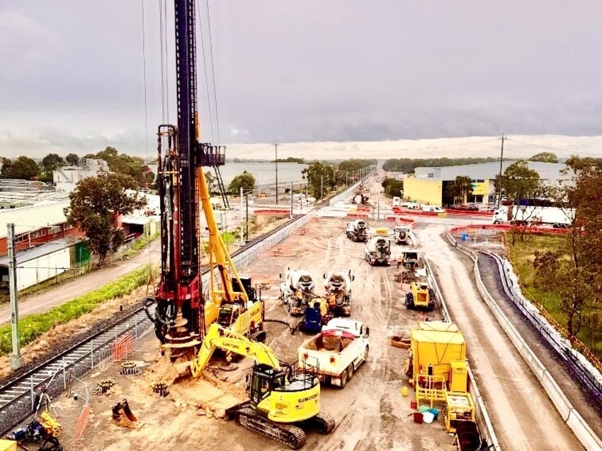
[[[591,430],[586,421],[584,421],[583,417],[581,417],[581,414],[579,414],[579,412],[574,408],[552,375],[550,375],[550,373],[547,371],[545,365],[541,363],[539,358],[528,346],[521,334],[516,330],[508,317],[506,317],[504,311],[501,310],[499,304],[496,303],[496,300],[494,300],[489,291],[487,291],[479,272],[479,257],[476,252],[473,252],[467,247],[460,245],[460,243],[455,240],[451,233],[447,233],[447,238],[454,247],[460,250],[460,252],[463,254],[466,254],[468,257],[470,257],[470,259],[472,259],[472,262],[474,262],[473,271],[479,293],[489,307],[489,310],[491,310],[494,317],[496,317],[496,320],[499,322],[501,328],[509,337],[512,344],[516,347],[518,353],[533,372],[533,375],[535,375],[535,377],[537,377],[539,380],[540,385],[543,387],[547,396],[552,401],[552,404],[554,404],[558,413],[560,416],[562,416],[564,423],[567,423],[567,426],[571,428],[574,435],[586,450],[602,450],[602,441],[600,438],[598,438],[596,433]]]

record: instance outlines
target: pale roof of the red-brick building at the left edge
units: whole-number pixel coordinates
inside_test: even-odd
[[[9,223],[15,225],[16,235],[64,223],[67,221],[63,213],[66,206],[69,206],[69,201],[0,210],[0,238],[6,237],[6,224]]]

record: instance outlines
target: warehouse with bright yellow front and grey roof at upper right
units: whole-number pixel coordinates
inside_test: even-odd
[[[502,172],[517,160],[502,163]],[[570,180],[571,175],[563,174],[567,168],[564,163],[542,163],[528,161],[530,169],[538,172],[540,179],[547,185],[558,185]],[[404,178],[404,199],[429,205],[452,205],[453,197],[449,187],[455,177],[466,176],[472,180],[472,193],[468,201],[475,204],[493,204],[495,199],[494,180],[499,175],[499,163],[477,163],[474,165],[424,167],[414,170],[414,177]]]

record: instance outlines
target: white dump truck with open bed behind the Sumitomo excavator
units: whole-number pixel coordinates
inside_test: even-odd
[[[322,382],[344,388],[368,360],[369,334],[370,329],[362,322],[334,318],[322,332],[301,344],[300,365],[315,368]]]

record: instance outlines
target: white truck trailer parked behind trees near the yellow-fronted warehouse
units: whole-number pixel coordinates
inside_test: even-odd
[[[510,210],[511,209],[511,210]],[[552,228],[567,228],[572,223],[574,209],[556,206],[500,206],[494,211],[493,223],[528,223],[529,225],[552,225]]]

